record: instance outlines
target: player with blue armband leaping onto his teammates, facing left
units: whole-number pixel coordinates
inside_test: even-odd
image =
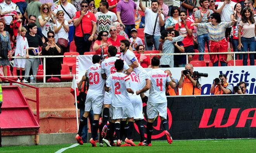
[[[142,89],[145,84],[145,77],[147,72],[143,69],[142,66],[140,66],[137,57],[135,56],[135,54],[129,50],[130,47],[130,42],[128,40],[121,40],[120,41],[120,52],[121,52],[121,58],[125,60],[125,62],[133,68],[133,71],[135,71],[138,74],[138,77],[140,78],[140,87],[139,89]],[[144,93],[142,92],[140,94],[142,101],[144,103],[147,103],[148,101],[148,97],[144,95]]]

